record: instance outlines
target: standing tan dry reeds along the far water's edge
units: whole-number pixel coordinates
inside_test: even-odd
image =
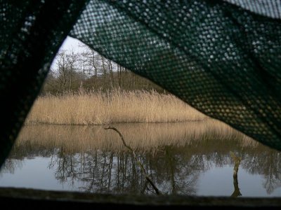
[[[112,90],[39,97],[25,123],[103,125],[185,122],[205,118],[202,113],[171,94]]]

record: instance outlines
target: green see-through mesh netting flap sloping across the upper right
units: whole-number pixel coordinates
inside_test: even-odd
[[[229,2],[90,1],[70,36],[281,150],[279,10]]]

